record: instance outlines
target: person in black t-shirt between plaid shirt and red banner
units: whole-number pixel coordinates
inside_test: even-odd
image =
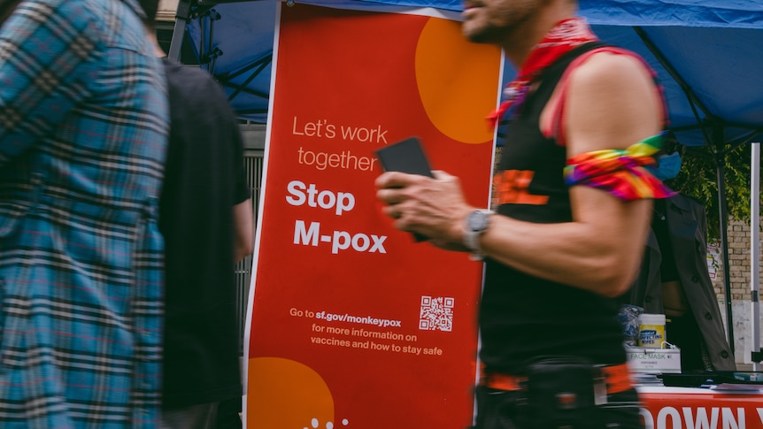
[[[158,1],[141,4],[155,19]],[[198,68],[166,59],[166,76],[170,142],[159,201],[166,241],[162,428],[207,429],[217,427],[221,402],[242,400],[234,266],[252,251],[253,214],[242,136],[227,97]]]

